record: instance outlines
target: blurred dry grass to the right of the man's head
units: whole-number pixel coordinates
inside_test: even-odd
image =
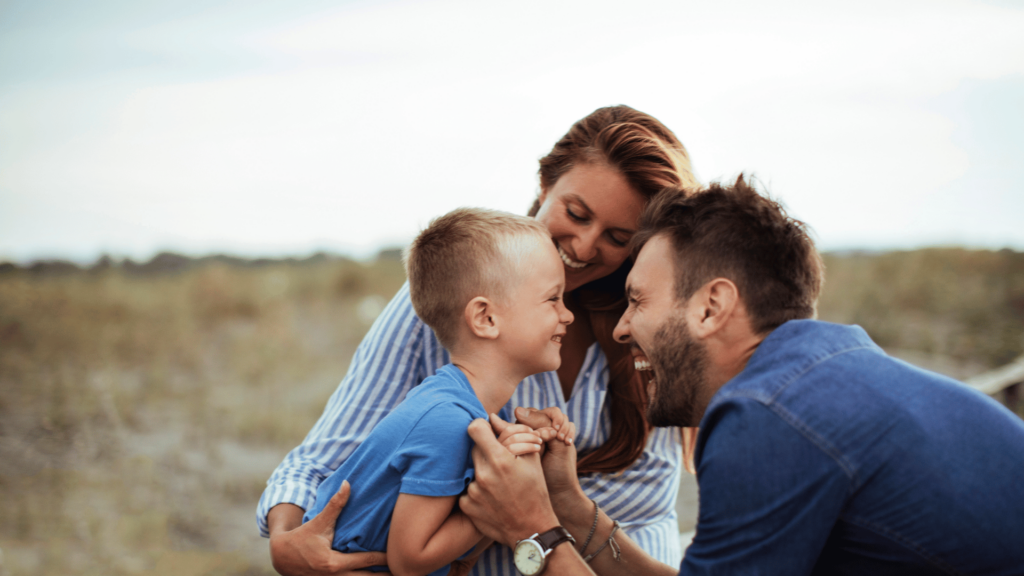
[[[826,255],[824,320],[883,347],[994,368],[1024,352],[1024,253],[926,249]]]

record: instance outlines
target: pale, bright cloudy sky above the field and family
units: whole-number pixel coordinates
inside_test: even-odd
[[[0,0],[0,260],[372,255],[626,104],[823,250],[1024,250],[1024,2]]]

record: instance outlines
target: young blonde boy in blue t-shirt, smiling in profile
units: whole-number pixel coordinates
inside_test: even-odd
[[[446,574],[482,538],[454,510],[473,478],[466,427],[497,414],[523,378],[558,369],[572,314],[562,302],[562,260],[531,218],[450,212],[413,242],[406,270],[413,307],[452,363],[413,388],[321,484],[304,521],[348,480],[335,549],[386,550],[400,576]]]

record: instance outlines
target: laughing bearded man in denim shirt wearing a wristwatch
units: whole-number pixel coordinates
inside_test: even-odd
[[[740,177],[659,195],[634,241],[615,336],[652,368],[651,423],[700,425],[682,574],[1024,573],[1024,423],[858,327],[810,320],[822,273],[802,223]],[[552,445],[542,481],[488,428],[470,426],[477,482],[461,501],[484,533],[514,544],[560,524],[579,542],[593,521],[593,541],[615,544],[594,572],[676,573],[609,538],[570,449]],[[590,573],[571,545],[545,561]]]

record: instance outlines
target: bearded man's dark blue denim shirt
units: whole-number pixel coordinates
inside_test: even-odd
[[[1024,422],[856,326],[787,322],[712,399],[681,573],[1024,574]]]

